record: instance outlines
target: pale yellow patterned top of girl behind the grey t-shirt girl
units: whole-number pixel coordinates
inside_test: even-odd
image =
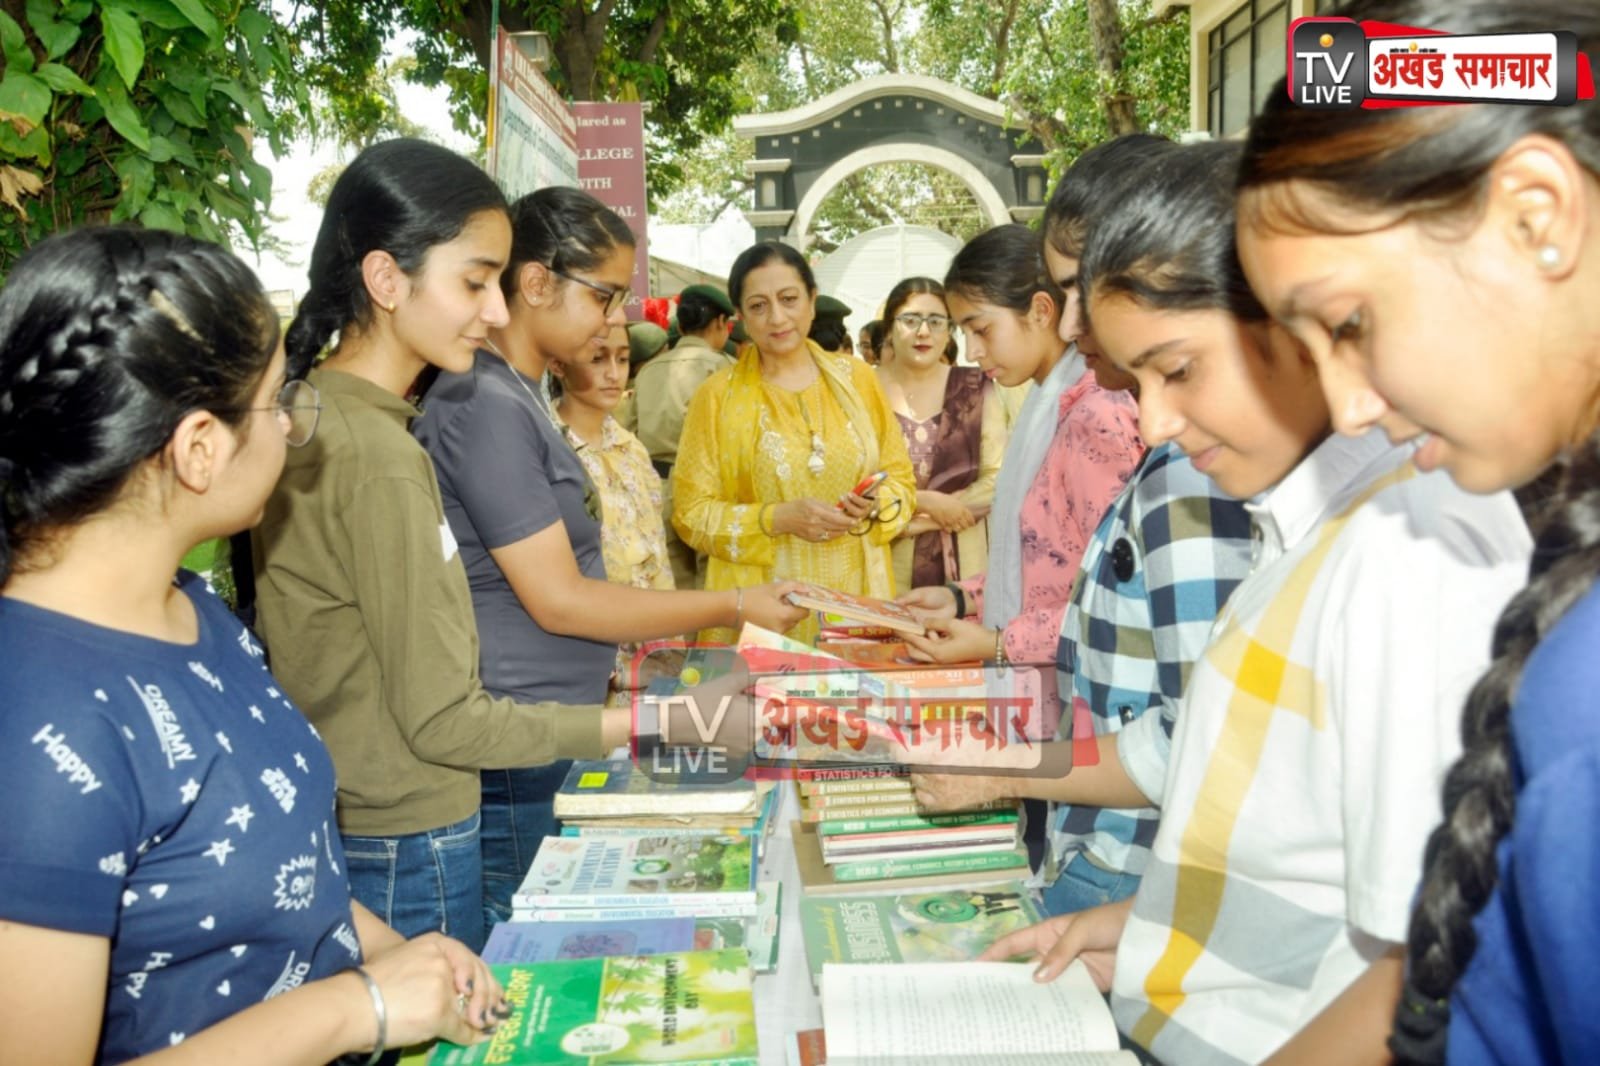
[[[562,432],[600,496],[600,555],[605,559],[606,579],[635,589],[674,587],[667,535],[661,522],[661,475],[650,464],[645,445],[610,415],[600,426],[598,447],[587,443],[565,423]],[[624,643],[616,650],[616,672],[624,682],[637,650],[637,643]]]

